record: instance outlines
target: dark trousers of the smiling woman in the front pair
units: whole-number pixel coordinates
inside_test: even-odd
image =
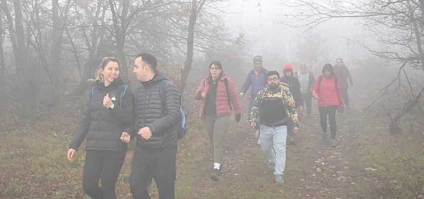
[[[82,173],[84,192],[93,199],[116,199],[115,184],[124,159],[125,151],[87,150]]]

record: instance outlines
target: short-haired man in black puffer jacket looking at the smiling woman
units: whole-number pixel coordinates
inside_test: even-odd
[[[130,187],[135,199],[150,199],[148,188],[155,179],[159,198],[175,198],[177,124],[180,96],[174,84],[156,71],[156,58],[147,53],[134,60],[133,73],[141,82],[134,91],[137,144],[131,166]],[[162,81],[166,103],[159,86]]]

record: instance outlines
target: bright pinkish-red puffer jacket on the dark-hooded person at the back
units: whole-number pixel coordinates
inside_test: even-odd
[[[344,108],[345,104],[343,102],[342,88],[340,85],[340,80],[337,80],[337,91],[334,80],[334,75],[327,78],[322,76],[321,84],[319,84],[319,77],[315,80],[314,88],[312,89],[312,96],[318,96],[318,107],[332,106],[336,105],[340,108]],[[318,85],[320,86],[318,88]],[[318,91],[319,89],[319,91]]]

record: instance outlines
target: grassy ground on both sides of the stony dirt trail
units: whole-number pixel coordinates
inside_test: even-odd
[[[231,121],[233,118],[231,119]],[[374,121],[370,121],[373,123]],[[380,122],[380,121],[375,121]],[[229,132],[246,133],[251,131],[245,123],[231,124]],[[42,126],[42,125],[40,125]],[[41,129],[41,128],[38,128]],[[304,137],[302,137],[304,136]],[[83,146],[76,153],[73,162],[66,160],[70,137],[65,132],[37,132],[33,128],[21,127],[10,132],[0,132],[0,198],[88,198],[84,195],[82,169],[85,152]],[[224,180],[213,183],[209,179],[211,147],[202,121],[192,119],[187,137],[181,140],[177,155],[176,197],[182,199],[257,199],[257,198],[304,198],[306,194],[296,187],[296,171],[304,159],[311,158],[307,148],[316,147],[316,137],[300,135],[299,144],[287,149],[287,171],[285,180],[290,182],[278,187],[273,176],[263,173],[266,161],[260,149],[254,154],[244,154],[243,158],[229,157],[228,161],[241,161],[239,168],[224,175]],[[423,153],[423,135],[404,134],[393,137],[385,127],[367,127],[364,136],[355,142],[361,149],[355,154],[356,164],[361,168],[377,169],[369,172],[369,178],[382,182],[379,191],[388,197],[408,199],[424,194],[424,156],[407,160]],[[241,144],[243,145],[243,144]],[[258,146],[256,146],[258,147]],[[231,152],[235,153],[235,152]],[[228,156],[233,154],[229,153]],[[132,153],[128,152],[121,174],[117,181],[117,196],[130,199],[128,178],[131,170]],[[243,160],[244,161],[244,160]],[[252,167],[254,167],[252,169]],[[237,174],[237,175],[234,175]],[[304,175],[304,174],[303,174]],[[226,179],[226,180],[225,180]],[[396,181],[396,182],[395,182]],[[372,198],[375,192],[370,185],[352,185],[356,196]],[[374,188],[373,188],[374,189]],[[150,187],[152,199],[157,199],[154,183]],[[346,192],[346,191],[345,191]],[[338,198],[343,192],[333,190],[327,198]],[[302,194],[302,196],[299,196]]]

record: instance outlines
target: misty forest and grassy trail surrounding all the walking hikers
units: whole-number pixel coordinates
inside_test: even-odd
[[[123,84],[136,91],[141,53],[157,58],[187,114],[175,198],[424,199],[424,0],[0,0],[0,47],[1,199],[90,198],[82,183],[88,141],[67,158],[93,95],[88,80],[115,57]],[[331,144],[322,138],[321,95],[310,97],[310,114],[297,107],[282,185],[249,122],[253,84],[239,94],[257,55],[267,71],[282,77],[287,64],[293,74],[306,66],[317,82],[341,58],[352,77],[349,100],[337,96],[348,106],[335,113]],[[217,182],[203,101],[195,100],[212,61],[241,109],[239,121],[236,106],[227,117]],[[124,154],[118,199],[134,197],[138,139]],[[159,199],[155,181],[148,190]]]

